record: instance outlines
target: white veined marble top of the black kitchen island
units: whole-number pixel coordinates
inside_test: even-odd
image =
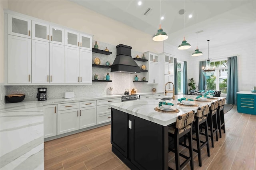
[[[182,115],[189,111],[197,112],[198,107],[186,107],[177,105],[178,99],[186,97],[188,99],[195,99],[195,95],[175,95],[175,100],[168,100],[168,102],[173,103],[176,109],[179,109],[179,113],[162,113],[155,111],[154,108],[158,106],[158,102],[160,100],[156,99],[144,99],[144,100],[135,100],[135,101],[127,101],[122,103],[113,103],[110,104],[110,107],[128,113],[130,115],[134,115],[136,117],[140,117],[142,119],[157,123],[162,126],[170,125],[176,122],[178,115]],[[161,97],[163,98],[163,97]],[[160,99],[161,99],[160,98]],[[214,97],[218,99],[211,99],[210,102],[200,102],[193,101],[199,107],[204,105],[211,105],[212,102],[222,99],[223,97]]]

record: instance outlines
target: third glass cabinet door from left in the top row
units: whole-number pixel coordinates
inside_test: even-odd
[[[65,30],[62,28],[50,26],[50,42],[64,45],[64,32]]]

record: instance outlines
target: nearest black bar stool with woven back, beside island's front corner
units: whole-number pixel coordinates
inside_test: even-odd
[[[175,166],[176,170],[182,169],[188,162],[190,162],[190,169],[194,170],[193,162],[193,146],[192,146],[192,125],[194,121],[195,112],[190,111],[183,115],[179,115],[176,121],[176,126],[170,126],[168,134],[170,137],[174,138],[174,150],[169,149],[169,151],[175,154]],[[180,153],[178,145],[180,144],[179,139],[184,135],[188,134],[188,144],[189,144],[189,157]],[[186,160],[180,164],[180,156]],[[169,169],[172,169],[169,167]]]

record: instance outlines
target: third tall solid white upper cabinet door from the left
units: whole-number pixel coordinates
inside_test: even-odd
[[[49,83],[65,83],[65,46],[50,43]]]

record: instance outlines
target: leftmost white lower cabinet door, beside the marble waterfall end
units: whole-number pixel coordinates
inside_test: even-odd
[[[44,138],[57,135],[57,105],[44,106]]]

